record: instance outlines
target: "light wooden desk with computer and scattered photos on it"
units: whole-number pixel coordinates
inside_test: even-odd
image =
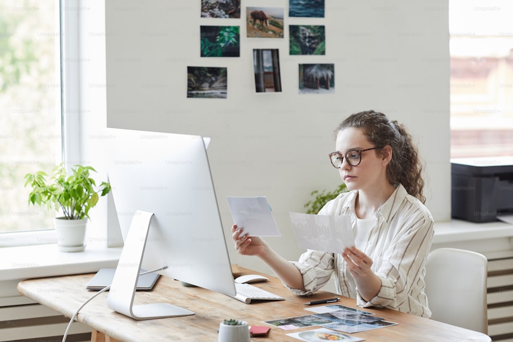
[[[244,268],[241,268],[241,271],[242,274],[256,273]],[[85,285],[92,276],[93,274],[80,274],[24,280],[18,284],[18,291],[38,303],[71,317],[76,309],[93,294],[85,289]],[[194,311],[195,315],[133,320],[109,309],[108,294],[101,293],[81,310],[77,320],[93,329],[93,338],[105,334],[107,340],[110,336],[120,341],[212,342],[217,341],[219,323],[225,318],[244,319],[249,325],[266,325],[262,321],[309,314],[309,311],[304,310],[303,303],[306,301],[337,296],[321,291],[313,296],[300,297],[288,291],[278,278],[268,277],[269,281],[266,283],[254,285],[281,295],[285,300],[244,304],[220,293],[202,288],[184,287],[179,281],[161,277],[153,291],[136,293],[135,304],[166,302]],[[356,307],[356,300],[351,298],[341,297],[338,303]],[[491,341],[488,336],[479,332],[394,310],[369,308],[365,310],[398,323],[396,326],[354,334],[368,341]],[[318,327],[285,331],[271,327],[267,338],[253,337],[251,340],[298,341],[286,334],[315,328]]]

